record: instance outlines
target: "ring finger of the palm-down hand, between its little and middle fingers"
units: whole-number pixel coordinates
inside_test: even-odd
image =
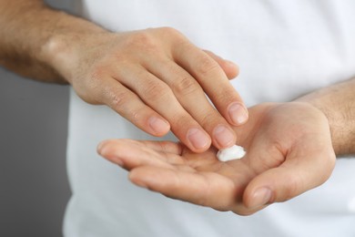
[[[150,108],[167,119],[171,130],[189,149],[202,152],[211,139],[194,118],[178,102],[166,83],[144,67],[125,67],[117,71],[117,80],[134,91]]]

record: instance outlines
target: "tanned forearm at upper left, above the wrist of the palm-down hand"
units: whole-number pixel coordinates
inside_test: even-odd
[[[0,64],[24,77],[66,83],[56,54],[76,35],[98,31],[104,30],[40,0],[0,0]]]

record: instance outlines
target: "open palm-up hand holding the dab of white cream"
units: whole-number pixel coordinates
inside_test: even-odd
[[[322,184],[335,163],[328,119],[308,103],[261,104],[235,128],[247,150],[220,162],[217,149],[200,154],[168,141],[107,140],[98,151],[151,191],[218,211],[248,215]]]

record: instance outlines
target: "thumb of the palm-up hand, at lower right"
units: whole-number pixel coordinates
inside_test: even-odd
[[[251,180],[244,193],[245,205],[258,208],[272,202],[288,201],[328,180],[334,168],[334,151],[324,146],[313,151],[292,153],[278,168],[267,170]]]

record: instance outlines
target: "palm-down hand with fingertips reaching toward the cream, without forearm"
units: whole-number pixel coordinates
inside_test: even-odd
[[[211,141],[218,149],[236,142],[229,124],[248,118],[228,81],[237,76],[236,65],[172,28],[76,35],[69,42],[63,50],[65,43],[54,41],[48,50],[56,56],[53,65],[86,102],[106,104],[154,136],[171,129],[195,152],[208,149]]]

